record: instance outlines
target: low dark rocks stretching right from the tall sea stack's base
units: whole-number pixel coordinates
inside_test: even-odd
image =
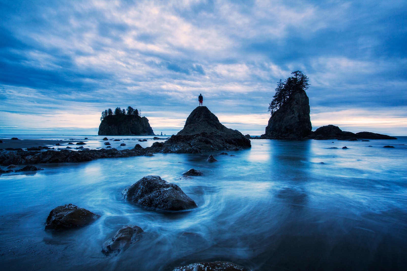
[[[386,134],[376,134],[372,132],[358,132],[356,134],[352,132],[342,131],[338,126],[326,125],[319,127],[312,132],[307,139],[338,139],[338,140],[357,140],[357,139],[397,139],[396,137],[390,137]]]

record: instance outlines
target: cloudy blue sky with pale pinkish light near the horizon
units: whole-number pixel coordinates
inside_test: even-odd
[[[97,134],[132,106],[176,134],[204,105],[264,134],[301,70],[313,130],[407,136],[407,1],[0,0],[0,134]]]

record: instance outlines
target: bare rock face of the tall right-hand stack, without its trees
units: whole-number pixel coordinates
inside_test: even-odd
[[[262,138],[302,139],[311,134],[309,98],[305,91],[292,93],[290,98],[269,119]]]

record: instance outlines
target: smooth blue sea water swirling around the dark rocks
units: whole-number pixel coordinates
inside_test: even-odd
[[[84,137],[85,147],[104,147],[103,137],[76,136]],[[109,141],[114,147],[132,148],[142,137],[117,138]],[[146,138],[145,146],[154,142]],[[407,137],[254,139],[251,149],[220,153],[42,164],[41,171],[0,175],[2,270],[171,271],[215,260],[256,271],[406,270]],[[206,162],[209,154],[218,162]],[[203,175],[177,179],[190,168]],[[177,184],[198,208],[159,212],[120,199],[147,175]],[[101,218],[44,230],[50,210],[68,203]],[[141,227],[142,238],[104,256],[103,243],[127,224]]]

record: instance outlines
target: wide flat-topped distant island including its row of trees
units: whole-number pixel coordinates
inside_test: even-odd
[[[114,111],[102,112],[98,135],[155,135],[146,117],[141,117],[137,109],[117,107]]]

